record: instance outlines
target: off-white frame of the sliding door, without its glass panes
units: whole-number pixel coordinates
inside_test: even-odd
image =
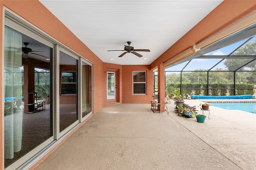
[[[45,156],[52,148],[60,144],[64,138],[68,136],[73,130],[78,127],[78,125],[88,119],[93,114],[93,93],[92,93],[92,111],[82,118],[82,90],[81,90],[81,81],[82,81],[82,61],[92,66],[93,63],[87,59],[80,56],[78,53],[68,48],[66,45],[62,44],[58,40],[52,38],[50,35],[40,30],[30,22],[26,21],[24,18],[18,16],[11,10],[6,7],[3,7],[3,35],[2,35],[2,56],[4,56],[4,26],[8,26],[30,38],[37,40],[53,49],[52,55],[52,96],[51,96],[51,105],[52,105],[52,132],[53,135],[48,138],[46,141],[42,142],[39,146],[32,149],[30,152],[16,160],[14,163],[10,164],[6,169],[29,169],[36,161]],[[70,56],[78,59],[78,120],[72,123],[68,128],[64,129],[62,132],[59,132],[59,93],[60,93],[60,69],[59,69],[59,53],[63,51],[68,53]],[[92,69],[93,70],[93,69]],[[93,77],[93,72],[91,70],[91,77]],[[4,59],[2,57],[2,75],[4,74]],[[91,80],[92,81],[92,80]],[[2,87],[4,87],[4,76],[2,76]],[[93,81],[92,81],[93,87]],[[91,88],[91,91],[93,88]],[[93,91],[92,91],[93,92]],[[2,96],[4,95],[4,88],[2,88]],[[4,131],[4,100],[2,100],[2,129]],[[4,134],[2,135],[2,169],[4,169]]]

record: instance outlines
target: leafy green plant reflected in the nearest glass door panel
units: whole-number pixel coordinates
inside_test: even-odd
[[[35,92],[38,93],[38,97],[41,97],[45,104],[50,104],[50,85],[49,84],[36,84]]]

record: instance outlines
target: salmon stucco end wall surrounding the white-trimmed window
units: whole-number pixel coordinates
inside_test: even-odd
[[[150,70],[150,65],[123,65],[122,70],[122,103],[150,104],[153,95],[153,70]],[[132,94],[132,71],[146,71],[146,95]]]

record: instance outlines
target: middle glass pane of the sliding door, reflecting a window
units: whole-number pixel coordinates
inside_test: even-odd
[[[78,59],[60,51],[60,132],[78,121]]]

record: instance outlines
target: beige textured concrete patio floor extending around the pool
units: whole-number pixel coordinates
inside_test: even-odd
[[[256,169],[256,114],[210,106],[211,119],[198,123],[167,108],[105,106],[35,170]]]

